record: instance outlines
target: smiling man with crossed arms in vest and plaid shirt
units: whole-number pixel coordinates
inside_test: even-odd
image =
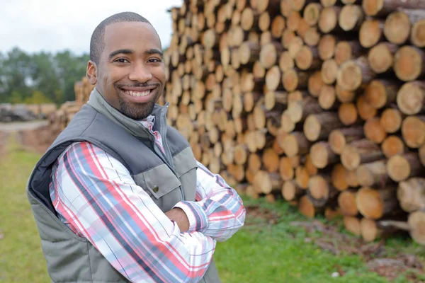
[[[118,13],[94,30],[96,88],[28,181],[52,282],[220,282],[216,241],[245,209],[166,125],[157,32]]]

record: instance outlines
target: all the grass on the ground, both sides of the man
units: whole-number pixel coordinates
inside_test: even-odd
[[[25,192],[28,175],[39,157],[11,142],[0,161],[0,282],[50,282]],[[368,271],[360,256],[336,256],[305,241],[311,235],[291,226],[290,221],[307,219],[288,204],[247,198],[244,204],[278,215],[277,223],[248,216],[238,233],[217,244],[215,262],[223,283],[387,282]],[[400,250],[417,254],[419,249],[425,257],[425,249],[404,238],[392,239],[387,246],[394,255]],[[344,272],[344,276],[332,278],[332,272]],[[407,282],[406,276],[400,275],[395,282]]]

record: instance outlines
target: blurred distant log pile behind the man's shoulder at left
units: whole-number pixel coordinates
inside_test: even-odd
[[[47,119],[52,132],[59,134],[67,127],[72,117],[80,110],[81,106],[89,100],[89,96],[94,86],[89,83],[87,77],[74,83],[75,100],[67,101],[60,105],[56,112],[52,112]]]

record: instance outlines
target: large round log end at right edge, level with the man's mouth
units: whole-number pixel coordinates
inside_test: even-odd
[[[406,115],[425,111],[425,81],[404,83],[397,93],[397,106]]]

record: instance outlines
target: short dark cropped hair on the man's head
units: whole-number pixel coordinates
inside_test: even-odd
[[[90,40],[90,59],[91,61],[98,64],[99,59],[101,59],[101,54],[104,47],[103,36],[105,35],[105,29],[107,25],[113,23],[123,23],[123,22],[142,22],[152,25],[146,18],[140,16],[138,13],[133,12],[123,12],[115,13],[106,19],[104,19],[98,26],[94,29],[93,34],[91,35]]]

